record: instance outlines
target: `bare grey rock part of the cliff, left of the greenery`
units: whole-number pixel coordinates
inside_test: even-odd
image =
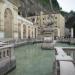
[[[42,9],[45,10],[37,0],[21,0],[20,3],[21,7],[19,7],[19,12],[24,17],[36,15],[39,14],[39,11]]]

